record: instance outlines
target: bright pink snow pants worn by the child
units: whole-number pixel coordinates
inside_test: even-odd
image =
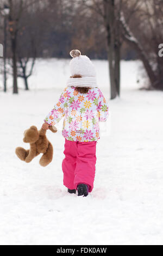
[[[96,164],[96,141],[72,142],[65,139],[65,159],[62,161],[64,185],[70,190],[77,189],[78,184],[89,185],[93,189]]]

